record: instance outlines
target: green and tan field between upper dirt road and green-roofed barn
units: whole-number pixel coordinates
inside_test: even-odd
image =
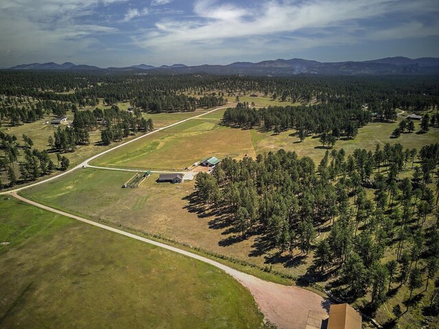
[[[219,125],[217,119],[200,118],[126,145],[97,158],[101,167],[182,170],[202,158],[255,156],[250,130]]]

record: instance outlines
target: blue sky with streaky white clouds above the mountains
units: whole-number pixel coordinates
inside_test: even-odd
[[[1,0],[0,67],[439,57],[438,0]]]

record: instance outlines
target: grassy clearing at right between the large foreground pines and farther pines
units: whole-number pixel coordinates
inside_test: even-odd
[[[416,134],[420,130],[420,122],[415,121],[416,130],[412,133],[401,134],[399,138],[390,138],[393,130],[398,126],[403,118],[398,117],[396,123],[382,123],[372,122],[361,127],[355,139],[338,140],[334,145],[334,149],[344,149],[346,154],[352,154],[357,148],[375,151],[375,146],[380,144],[381,147],[385,143],[396,144],[400,143],[405,148],[416,148],[418,151],[423,145],[437,143],[439,141],[439,129],[430,127],[427,134]],[[281,132],[281,134],[273,134],[273,132],[258,132],[251,130],[252,141],[257,153],[264,151],[276,151],[278,149],[285,149],[285,151],[296,151],[299,156],[309,156],[315,162],[320,162],[326,148],[322,148],[322,143],[319,138],[309,136],[305,141],[300,143],[296,130],[289,130]],[[331,149],[329,149],[331,151]]]

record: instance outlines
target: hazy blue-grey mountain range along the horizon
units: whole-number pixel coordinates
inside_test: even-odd
[[[154,73],[211,73],[217,75],[272,75],[289,76],[297,74],[320,75],[392,75],[392,74],[439,74],[439,58],[391,57],[363,62],[317,62],[316,60],[264,60],[263,62],[235,62],[227,65],[152,66],[147,64],[128,67],[108,67],[106,69],[90,65],[32,63],[12,66],[9,70],[46,70],[46,71],[147,71]]]

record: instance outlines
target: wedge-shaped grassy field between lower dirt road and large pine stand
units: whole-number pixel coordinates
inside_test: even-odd
[[[158,175],[152,174],[139,188],[121,188],[130,177],[132,172],[87,168],[20,194],[75,215],[160,234],[210,252],[266,265],[263,256],[250,256],[256,243],[255,236],[235,241],[235,232],[227,230],[224,219],[199,217],[195,210],[188,208],[187,197],[193,192],[195,182],[158,184],[155,182]],[[272,268],[298,275],[308,265],[284,267],[282,263],[273,263]]]

